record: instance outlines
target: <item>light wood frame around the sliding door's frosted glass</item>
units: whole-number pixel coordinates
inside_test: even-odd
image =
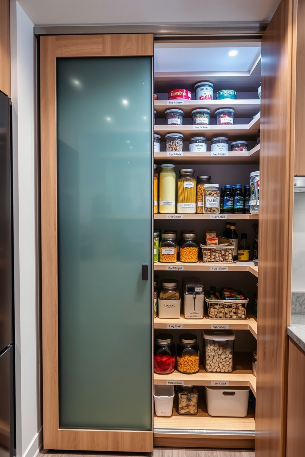
[[[43,445],[49,449],[152,452],[153,431],[59,428],[56,58],[153,56],[153,34],[40,38]]]

